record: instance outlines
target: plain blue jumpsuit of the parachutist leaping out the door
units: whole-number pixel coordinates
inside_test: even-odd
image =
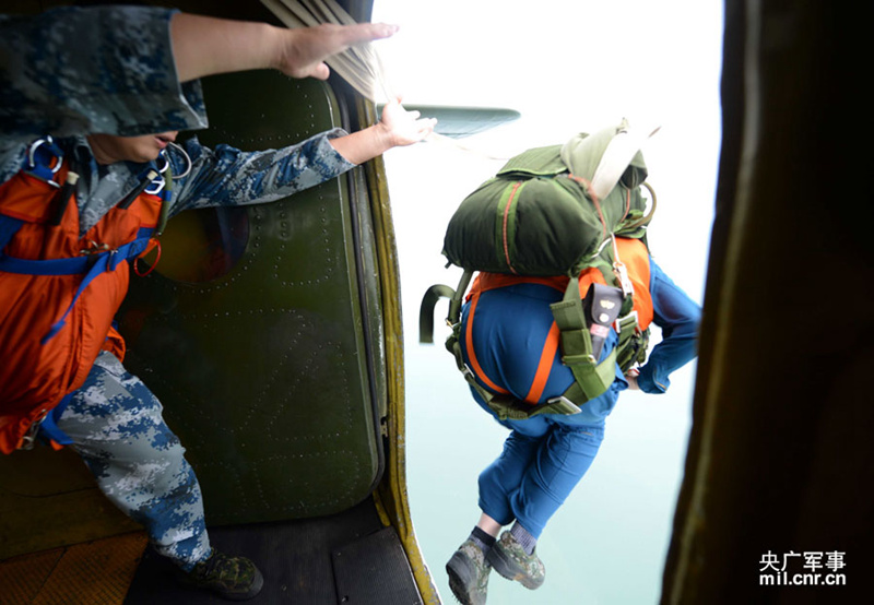
[[[663,340],[640,368],[638,384],[647,393],[663,393],[669,376],[695,357],[700,308],[650,259],[653,323]],[[485,376],[513,396],[524,400],[538,368],[543,343],[553,323],[550,304],[563,293],[546,285],[522,283],[480,295],[471,340]],[[461,348],[465,361],[471,302],[462,309]],[[611,330],[602,358],[616,346]],[[470,365],[470,363],[469,363]],[[480,380],[477,378],[477,380]],[[569,368],[556,354],[539,403],[560,395],[574,382]],[[480,381],[484,388],[488,388]],[[510,429],[500,455],[480,474],[480,508],[500,523],[518,521],[540,536],[546,522],[564,503],[594,461],[604,439],[604,420],[628,382],[616,366],[607,391],[575,415],[541,414],[524,420],[500,420],[471,389],[480,406]]]

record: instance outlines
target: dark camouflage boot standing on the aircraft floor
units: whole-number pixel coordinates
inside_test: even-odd
[[[255,564],[246,557],[229,557],[212,549],[209,558],[181,573],[184,584],[213,591],[229,601],[252,598],[264,585],[264,578]]]

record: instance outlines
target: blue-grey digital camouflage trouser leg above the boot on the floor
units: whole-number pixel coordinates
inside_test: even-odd
[[[190,570],[210,553],[203,499],[157,398],[102,353],[58,420],[101,490],[141,523],[154,548]]]

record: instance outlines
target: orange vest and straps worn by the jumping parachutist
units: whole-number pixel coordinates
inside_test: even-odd
[[[649,270],[649,252],[647,250],[646,245],[639,239],[631,239],[625,237],[617,237],[616,238],[616,248],[618,252],[618,258],[625,264],[628,271],[628,277],[631,281],[634,286],[634,311],[637,312],[637,325],[640,331],[646,330],[649,328],[649,324],[652,323],[652,296],[649,290],[649,278],[650,278],[650,270]],[[506,286],[511,286],[515,284],[542,284],[545,286],[550,286],[555,288],[558,292],[564,293],[567,288],[569,278],[567,276],[552,276],[552,277],[534,277],[534,276],[521,276],[521,275],[508,275],[505,273],[486,273],[481,272],[473,282],[471,286],[470,293],[468,294],[468,300],[471,301],[471,310],[470,316],[468,318],[466,324],[466,356],[471,365],[471,370],[479,377],[485,384],[488,385],[496,393],[508,394],[509,391],[503,389],[494,381],[492,381],[480,367],[480,364],[476,360],[476,354],[473,349],[473,337],[471,335],[471,330],[473,325],[473,316],[476,310],[476,302],[479,301],[480,295],[484,292],[495,288],[501,288]],[[589,287],[593,283],[604,284],[606,282],[604,276],[602,275],[601,271],[598,269],[591,268],[584,270],[579,277],[580,282],[580,298],[586,298],[586,294],[589,292]],[[534,380],[531,384],[531,389],[529,390],[528,394],[525,395],[524,400],[528,403],[536,404],[540,400],[541,395],[543,394],[543,389],[546,385],[546,381],[550,377],[550,369],[553,365],[553,359],[555,358],[556,353],[558,352],[559,345],[559,330],[558,325],[553,321],[552,328],[550,333],[546,336],[546,341],[543,345],[543,352],[540,357],[540,361],[538,364],[538,370],[534,375]]]

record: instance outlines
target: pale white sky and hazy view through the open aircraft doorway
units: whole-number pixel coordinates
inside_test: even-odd
[[[454,287],[460,275],[440,254],[446,225],[504,164],[494,157],[623,118],[659,126],[643,147],[659,202],[649,241],[660,266],[701,302],[721,135],[722,3],[377,0],[373,19],[401,26],[377,48],[404,103],[521,114],[463,146],[428,142],[385,155],[401,271],[410,505],[434,582],[452,603],[444,566],[479,518],[476,477],[507,432],[473,403],[442,347],[445,304],[437,344],[417,342],[423,294],[436,283]],[[493,574],[489,603],[659,601],[695,370],[675,372],[664,395],[623,394],[598,459],[539,542],[546,582],[531,592]]]

